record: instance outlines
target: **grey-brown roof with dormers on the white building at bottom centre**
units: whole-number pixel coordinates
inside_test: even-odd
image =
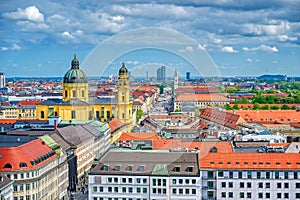
[[[176,167],[179,170],[175,170]],[[144,170],[141,170],[142,168]],[[189,171],[191,168],[192,170]],[[199,174],[198,154],[153,150],[110,150],[100,159],[90,174],[197,176]]]

